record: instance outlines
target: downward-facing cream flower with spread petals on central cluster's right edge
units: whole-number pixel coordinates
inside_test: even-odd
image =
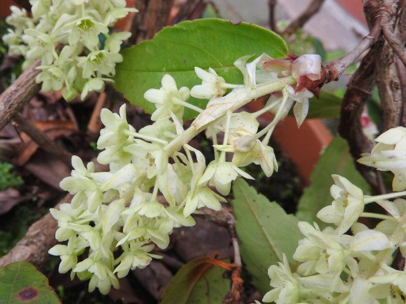
[[[248,179],[254,179],[251,175],[244,172],[234,164],[225,161],[212,161],[207,166],[205,173],[201,176],[198,183],[215,186],[222,195],[228,195],[231,189],[231,182],[237,177],[243,176]]]

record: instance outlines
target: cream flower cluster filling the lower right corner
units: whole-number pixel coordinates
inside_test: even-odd
[[[394,128],[377,138],[371,154],[359,161],[381,170],[396,170],[406,129]],[[398,157],[391,157],[397,155]],[[330,188],[333,201],[317,217],[325,223],[323,230],[314,223],[299,222],[304,239],[300,240],[293,259],[299,262],[292,273],[286,256],[283,263],[268,270],[270,286],[264,302],[276,303],[403,303],[406,295],[406,272],[390,267],[396,250],[406,253],[406,200],[395,199],[406,192],[375,197],[364,196],[348,179],[333,175]],[[395,173],[396,179],[396,173]],[[406,186],[406,185],[405,185]],[[395,190],[401,188],[393,183]],[[365,204],[376,202],[387,214],[364,212]],[[375,229],[357,222],[359,217],[382,219]],[[350,234],[346,232],[350,230]]]

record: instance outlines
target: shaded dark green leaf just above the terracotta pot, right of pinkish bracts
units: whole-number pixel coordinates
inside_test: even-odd
[[[307,118],[338,118],[342,101],[342,98],[333,93],[321,91],[320,99],[310,99]]]

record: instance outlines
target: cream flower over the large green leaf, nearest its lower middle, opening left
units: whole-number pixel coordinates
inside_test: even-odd
[[[195,67],[194,71],[198,78],[202,80],[201,85],[194,86],[190,90],[190,95],[195,98],[209,99],[221,97],[225,94],[227,87],[224,78],[217,75],[216,71],[209,67],[209,72]]]

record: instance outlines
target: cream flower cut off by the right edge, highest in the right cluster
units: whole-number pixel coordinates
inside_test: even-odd
[[[375,140],[378,144],[371,154],[365,153],[357,162],[375,167],[381,171],[392,171],[394,174],[393,191],[406,189],[406,128],[390,129]]]

